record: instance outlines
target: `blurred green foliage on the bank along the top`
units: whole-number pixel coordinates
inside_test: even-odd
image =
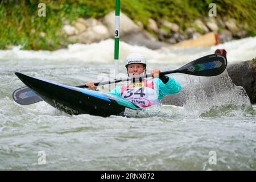
[[[38,16],[38,0],[0,1],[0,49],[23,45],[24,49],[54,50],[67,46],[67,35],[61,31],[63,21],[102,18],[115,9],[114,0],[44,0],[46,17]],[[147,26],[148,18],[177,23],[180,30],[192,27],[196,19],[208,16],[211,0],[121,0],[121,11],[135,22]],[[215,0],[217,17],[234,18],[237,25],[246,24],[249,36],[256,35],[256,0]],[[166,28],[162,27],[164,31]],[[200,30],[198,30],[200,32]],[[153,34],[153,32],[152,32]]]

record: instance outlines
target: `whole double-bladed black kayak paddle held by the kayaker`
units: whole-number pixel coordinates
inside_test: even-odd
[[[197,60],[185,64],[183,67],[179,69],[175,69],[173,71],[160,72],[160,75],[168,75],[171,73],[184,73],[187,75],[195,76],[217,76],[225,71],[226,65],[227,61],[224,55],[212,54],[200,57]],[[94,83],[94,85],[107,85],[130,80],[135,81],[145,77],[152,77],[152,74],[150,73],[140,77],[129,77],[113,81],[96,82]],[[88,86],[86,85],[79,85],[76,87],[88,88]],[[21,105],[30,105],[42,101],[42,99],[39,96],[37,96],[30,88],[27,88],[26,86],[23,88],[16,89],[13,92],[13,99],[15,102]]]

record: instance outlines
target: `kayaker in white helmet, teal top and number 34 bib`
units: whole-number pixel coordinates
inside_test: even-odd
[[[131,53],[126,57],[125,67],[129,77],[143,76],[146,74],[146,59],[140,53]],[[166,75],[159,76],[159,73],[159,69],[153,69],[152,77],[117,86],[108,93],[123,97],[142,107],[159,104],[164,95],[175,94],[181,90],[179,82],[174,78]],[[94,82],[87,82],[85,85],[92,90],[97,88]]]

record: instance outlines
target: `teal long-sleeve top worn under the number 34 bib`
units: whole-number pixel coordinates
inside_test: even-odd
[[[166,82],[166,84],[163,83],[162,80],[159,78],[154,78],[154,85],[155,89],[158,89],[158,100],[161,100],[164,98],[164,95],[170,95],[180,92],[181,86],[179,82],[177,82],[174,78],[169,77],[169,80]],[[110,94],[113,94],[114,96],[121,97],[121,88],[122,86],[117,86],[112,91],[108,92]]]

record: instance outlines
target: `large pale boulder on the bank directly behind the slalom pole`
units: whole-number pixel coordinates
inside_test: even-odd
[[[109,14],[105,15],[103,18],[103,23],[108,28],[110,32],[110,36],[114,38],[114,31],[115,31],[115,11],[110,12]],[[119,22],[119,35],[122,38],[126,34],[131,34],[132,32],[139,32],[141,28],[137,24],[133,22],[128,16],[120,12],[120,22]]]

